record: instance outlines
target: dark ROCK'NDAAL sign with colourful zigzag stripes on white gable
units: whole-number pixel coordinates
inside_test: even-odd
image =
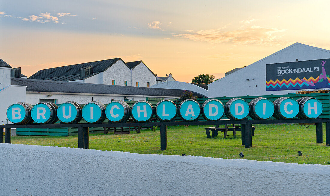
[[[266,91],[330,88],[330,59],[266,64]]]

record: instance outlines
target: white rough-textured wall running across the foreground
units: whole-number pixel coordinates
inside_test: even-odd
[[[2,195],[328,195],[330,166],[0,144]]]

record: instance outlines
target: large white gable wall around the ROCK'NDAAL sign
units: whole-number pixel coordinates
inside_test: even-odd
[[[330,58],[329,50],[294,43],[209,84],[208,97],[262,96],[295,93],[298,90],[266,91],[266,64],[328,58]]]

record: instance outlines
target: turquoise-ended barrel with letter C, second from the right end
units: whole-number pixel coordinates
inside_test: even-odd
[[[277,119],[291,119],[299,112],[299,104],[290,97],[280,97],[274,102],[275,111],[273,116]]]

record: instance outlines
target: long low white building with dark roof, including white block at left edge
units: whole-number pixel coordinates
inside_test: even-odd
[[[139,65],[141,62],[136,67]],[[183,93],[183,90],[180,89],[15,78],[11,77],[11,70],[12,66],[0,59],[0,122],[3,124],[7,123],[6,111],[8,107],[17,102],[35,105],[43,101],[55,104],[62,104],[66,101],[75,101],[79,104],[99,101],[108,104],[112,100],[177,99]],[[197,92],[193,93],[197,97],[204,97]]]

